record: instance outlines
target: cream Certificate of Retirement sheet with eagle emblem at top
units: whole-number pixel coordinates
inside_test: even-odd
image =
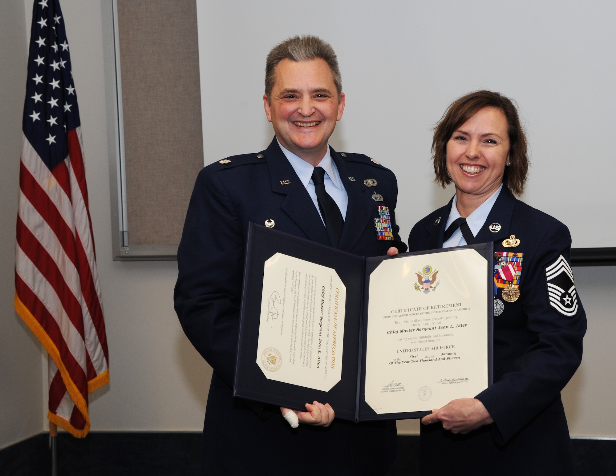
[[[365,401],[377,414],[440,408],[488,386],[487,260],[455,249],[370,275]]]

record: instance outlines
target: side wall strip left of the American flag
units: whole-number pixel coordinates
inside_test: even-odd
[[[13,309],[27,59],[23,4],[0,2],[0,448],[43,428],[41,345]]]

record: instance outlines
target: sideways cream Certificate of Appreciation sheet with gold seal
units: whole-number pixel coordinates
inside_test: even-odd
[[[341,379],[346,287],[332,268],[280,252],[264,265],[257,365],[328,392]]]

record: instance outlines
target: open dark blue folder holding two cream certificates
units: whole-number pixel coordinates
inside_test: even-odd
[[[251,224],[233,395],[355,422],[492,384],[492,243],[362,257]]]

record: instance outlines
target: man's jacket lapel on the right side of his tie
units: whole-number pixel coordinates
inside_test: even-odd
[[[353,175],[347,169],[346,161],[336,152],[333,147],[330,147],[331,158],[336,164],[338,175],[342,180],[342,184],[349,198],[347,204],[347,213],[344,217],[344,226],[342,227],[342,235],[340,236],[339,249],[351,251],[359,237],[362,236],[363,230],[368,225],[368,221],[373,214],[374,206],[365,198],[366,189],[360,187],[359,182],[351,182],[345,180],[347,176]]]

